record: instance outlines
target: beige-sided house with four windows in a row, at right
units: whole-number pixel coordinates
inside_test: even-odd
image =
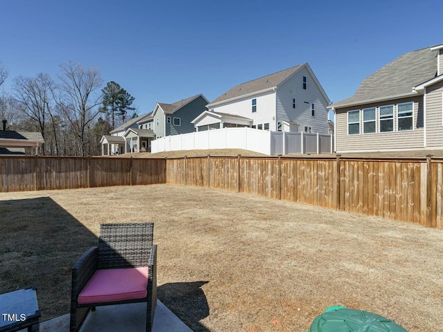
[[[330,106],[336,151],[443,149],[443,44],[401,55]]]

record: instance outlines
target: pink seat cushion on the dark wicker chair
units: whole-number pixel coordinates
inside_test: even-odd
[[[147,295],[146,287],[147,267],[97,270],[78,296],[78,303],[143,299]]]

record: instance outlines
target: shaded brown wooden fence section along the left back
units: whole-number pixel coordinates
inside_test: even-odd
[[[0,192],[165,183],[164,159],[0,158]]]

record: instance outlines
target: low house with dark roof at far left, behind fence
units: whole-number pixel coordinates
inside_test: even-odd
[[[25,156],[26,148],[30,148],[31,154],[37,155],[39,145],[43,143],[42,133],[6,130],[6,120],[3,120],[3,130],[0,130],[0,156]]]

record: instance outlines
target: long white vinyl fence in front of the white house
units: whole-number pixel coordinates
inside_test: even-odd
[[[243,128],[224,128],[166,136],[151,142],[151,152],[195,149],[246,149],[275,154],[329,154],[334,137],[319,133],[291,133]]]

